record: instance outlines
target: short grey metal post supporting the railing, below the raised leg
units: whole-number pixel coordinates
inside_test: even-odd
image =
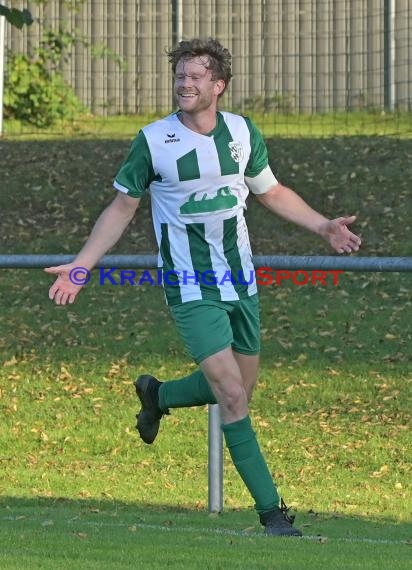
[[[220,428],[220,410],[217,404],[208,406],[208,494],[209,513],[223,510],[223,435]]]

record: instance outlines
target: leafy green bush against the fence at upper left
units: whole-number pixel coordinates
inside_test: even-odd
[[[73,119],[84,110],[58,70],[73,41],[65,32],[47,31],[34,55],[9,52],[4,93],[6,118],[47,128]]]

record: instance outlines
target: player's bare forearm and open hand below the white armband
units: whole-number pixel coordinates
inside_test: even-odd
[[[268,210],[323,237],[338,253],[358,251],[361,239],[348,229],[356,216],[329,220],[311,208],[296,192],[276,184],[255,198]]]

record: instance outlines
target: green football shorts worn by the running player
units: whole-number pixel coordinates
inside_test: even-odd
[[[170,310],[197,364],[229,346],[241,354],[260,351],[258,295],[239,301],[188,301]]]

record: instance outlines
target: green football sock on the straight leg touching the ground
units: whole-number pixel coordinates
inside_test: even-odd
[[[224,424],[222,431],[232,461],[255,501],[257,512],[264,513],[279,506],[280,497],[260,451],[250,417]]]

